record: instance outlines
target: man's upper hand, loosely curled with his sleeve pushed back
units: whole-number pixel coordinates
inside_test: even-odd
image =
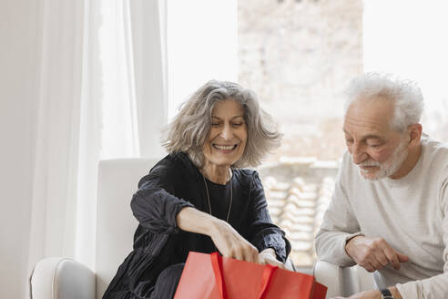
[[[381,270],[389,263],[393,269],[400,270],[401,263],[409,261],[408,256],[395,251],[382,238],[356,236],[347,242],[345,251],[368,272]]]

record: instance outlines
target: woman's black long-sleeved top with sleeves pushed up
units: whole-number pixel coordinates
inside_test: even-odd
[[[259,251],[274,249],[285,262],[290,242],[270,221],[259,175],[254,170],[233,170],[231,183],[206,180],[212,215],[226,220],[230,185],[232,205],[229,224]],[[216,247],[207,235],[181,231],[178,212],[194,207],[209,213],[209,201],[202,174],[185,153],[160,160],[138,182],[131,209],[139,222],[134,251],[120,265],[103,298],[145,298],[152,292],[158,273],[169,265],[185,263],[188,252],[212,253]]]

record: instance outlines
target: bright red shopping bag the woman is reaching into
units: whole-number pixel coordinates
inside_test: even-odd
[[[324,299],[314,276],[243,262],[218,253],[188,253],[175,299]]]

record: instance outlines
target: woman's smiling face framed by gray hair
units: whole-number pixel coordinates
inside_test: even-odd
[[[247,140],[248,128],[241,104],[231,99],[217,102],[211,112],[209,136],[202,147],[205,165],[229,167],[241,159]]]

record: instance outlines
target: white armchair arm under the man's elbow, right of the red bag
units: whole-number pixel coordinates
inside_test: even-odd
[[[318,261],[314,264],[313,274],[318,282],[328,287],[327,298],[350,296],[376,288],[372,273],[358,265],[342,268],[332,263]]]

